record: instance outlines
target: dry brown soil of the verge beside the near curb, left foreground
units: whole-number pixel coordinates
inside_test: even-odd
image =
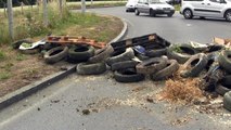
[[[3,49],[8,61],[0,62],[0,75],[8,77],[2,76],[0,79],[0,96],[60,70],[59,67],[46,64],[40,54],[25,55],[10,47],[0,47],[0,50]]]

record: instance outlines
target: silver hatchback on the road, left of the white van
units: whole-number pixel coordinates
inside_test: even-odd
[[[167,14],[171,17],[175,13],[175,8],[166,2],[159,0],[139,0],[134,6],[134,14],[147,13],[151,16],[156,14]]]

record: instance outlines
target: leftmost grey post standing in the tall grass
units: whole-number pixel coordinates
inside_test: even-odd
[[[8,0],[8,22],[9,22],[9,34],[10,34],[11,40],[14,40],[12,0]]]

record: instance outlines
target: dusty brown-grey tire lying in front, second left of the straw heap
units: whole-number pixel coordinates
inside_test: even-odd
[[[153,57],[139,63],[136,68],[139,74],[154,74],[167,66],[167,60],[164,57]]]

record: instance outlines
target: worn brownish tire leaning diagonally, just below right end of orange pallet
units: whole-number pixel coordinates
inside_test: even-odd
[[[114,52],[114,49],[112,46],[107,46],[103,49],[100,49],[95,51],[94,56],[89,58],[90,63],[99,63],[99,62],[104,62],[110,55]]]

